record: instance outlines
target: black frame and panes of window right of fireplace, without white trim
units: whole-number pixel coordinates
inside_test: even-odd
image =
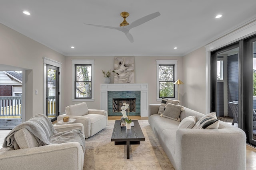
[[[175,98],[174,64],[159,64],[159,98]]]

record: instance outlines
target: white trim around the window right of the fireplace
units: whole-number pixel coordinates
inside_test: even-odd
[[[156,101],[161,101],[162,98],[159,98],[159,65],[161,64],[173,64],[174,65],[174,78],[177,78],[177,67],[178,67],[178,60],[156,60]],[[175,80],[175,81],[176,81]],[[175,88],[175,98],[174,100],[178,100],[178,88]]]

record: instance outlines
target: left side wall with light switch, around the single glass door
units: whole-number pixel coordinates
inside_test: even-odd
[[[28,115],[26,120],[33,115],[43,113],[43,57],[62,63],[62,70],[65,70],[65,57],[2,24],[0,24],[0,37],[0,64],[29,71],[28,79],[24,82],[28,85],[26,87],[26,115]],[[64,84],[64,74],[61,76],[63,77],[61,84]],[[37,95],[34,94],[36,89]],[[62,92],[64,93],[63,89]],[[64,111],[64,100],[61,99],[61,101],[61,111]]]

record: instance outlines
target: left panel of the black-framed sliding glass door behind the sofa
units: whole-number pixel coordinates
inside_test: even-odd
[[[238,127],[239,44],[211,54],[211,112]],[[223,119],[224,118],[224,119]]]

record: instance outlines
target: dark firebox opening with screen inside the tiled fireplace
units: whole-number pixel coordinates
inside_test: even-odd
[[[113,99],[113,112],[121,112],[123,103],[129,104],[130,112],[136,112],[136,99]],[[127,110],[126,110],[127,111]]]

